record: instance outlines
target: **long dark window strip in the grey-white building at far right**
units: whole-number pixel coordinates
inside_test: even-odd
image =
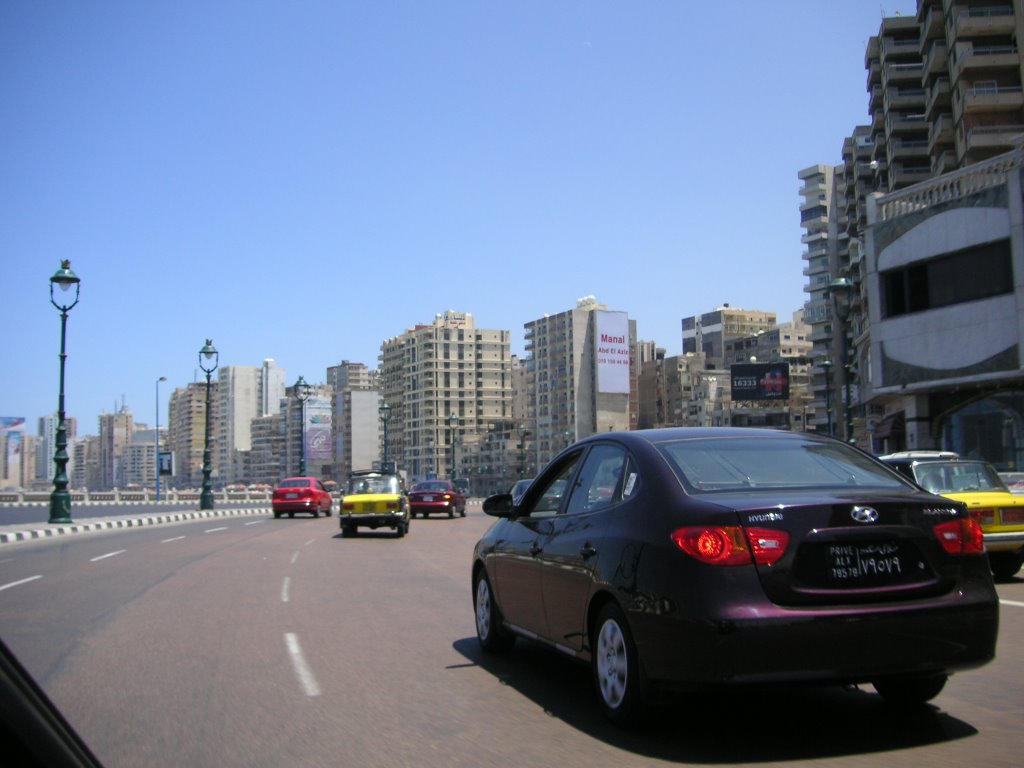
[[[882,313],[898,317],[1013,293],[1010,241],[883,272]]]

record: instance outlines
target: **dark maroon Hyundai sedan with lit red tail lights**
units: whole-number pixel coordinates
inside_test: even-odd
[[[605,714],[651,686],[870,682],[920,703],[994,655],[981,528],[827,437],[763,429],[593,435],[476,546],[484,650],[517,636],[589,662]]]

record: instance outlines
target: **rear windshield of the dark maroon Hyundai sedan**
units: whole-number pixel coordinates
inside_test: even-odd
[[[694,494],[744,488],[905,488],[873,459],[841,442],[793,437],[703,437],[658,445]]]

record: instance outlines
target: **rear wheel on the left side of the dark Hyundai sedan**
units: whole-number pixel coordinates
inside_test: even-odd
[[[597,616],[591,637],[591,670],[601,710],[615,725],[628,725],[640,715],[647,683],[626,615],[608,603]]]

